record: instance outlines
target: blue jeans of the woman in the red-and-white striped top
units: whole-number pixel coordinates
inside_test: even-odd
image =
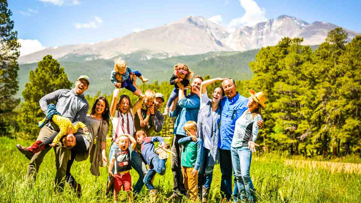
[[[109,161],[112,159],[112,154],[113,154],[114,150],[116,150],[118,148],[119,148],[119,146],[115,143],[113,143],[110,146]],[[139,174],[138,181],[135,183],[134,190],[133,190],[134,194],[138,194],[142,190],[142,187],[144,185],[143,178],[144,178],[144,173],[147,172],[147,168],[145,167],[145,163],[143,162],[142,157],[140,157],[138,152],[136,152],[135,150],[133,150],[131,152],[130,160],[131,160],[132,168],[134,168],[136,170],[136,172]],[[114,167],[112,169],[112,172],[114,173]],[[108,182],[109,182],[109,177],[108,177]],[[107,183],[107,185],[108,185],[108,183]]]

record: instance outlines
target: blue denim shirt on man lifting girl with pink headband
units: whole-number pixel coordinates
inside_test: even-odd
[[[174,121],[173,134],[186,135],[183,126],[187,121],[197,122],[200,105],[199,97],[196,94],[188,94],[186,98],[178,101],[176,109],[169,111],[169,117],[177,117]]]

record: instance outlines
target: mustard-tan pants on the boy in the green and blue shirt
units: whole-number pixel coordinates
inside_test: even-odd
[[[182,169],[184,187],[186,188],[189,197],[195,200],[197,199],[198,172],[195,176],[192,176],[192,170],[194,168],[182,167]]]

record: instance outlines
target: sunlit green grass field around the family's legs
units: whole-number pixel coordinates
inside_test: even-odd
[[[82,185],[80,199],[69,186],[62,193],[54,192],[55,155],[52,150],[40,166],[34,185],[27,185],[25,176],[29,160],[17,150],[17,143],[27,146],[31,141],[0,138],[3,160],[0,166],[0,202],[113,202],[112,198],[104,195],[108,169],[101,168],[101,176],[92,176],[89,160],[75,162],[71,171]],[[287,158],[289,157],[259,152],[253,154],[251,178],[257,190],[257,202],[361,202],[360,174],[330,173],[323,169],[286,166],[284,160]],[[131,175],[134,184],[138,174],[132,170]],[[220,180],[221,171],[219,165],[216,165],[208,202],[221,202]],[[173,187],[170,159],[167,161],[166,174],[157,174],[154,185],[160,192],[160,202],[166,202],[164,198],[171,194]],[[119,200],[127,202],[125,194]],[[135,202],[150,202],[145,187]],[[190,201],[184,199],[183,202]]]

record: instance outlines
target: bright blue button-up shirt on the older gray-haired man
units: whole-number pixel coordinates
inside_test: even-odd
[[[228,99],[225,96],[221,100],[221,137],[218,140],[218,147],[222,150],[231,150],[236,121],[247,110],[247,103],[248,98],[240,95],[238,92],[232,99]]]

